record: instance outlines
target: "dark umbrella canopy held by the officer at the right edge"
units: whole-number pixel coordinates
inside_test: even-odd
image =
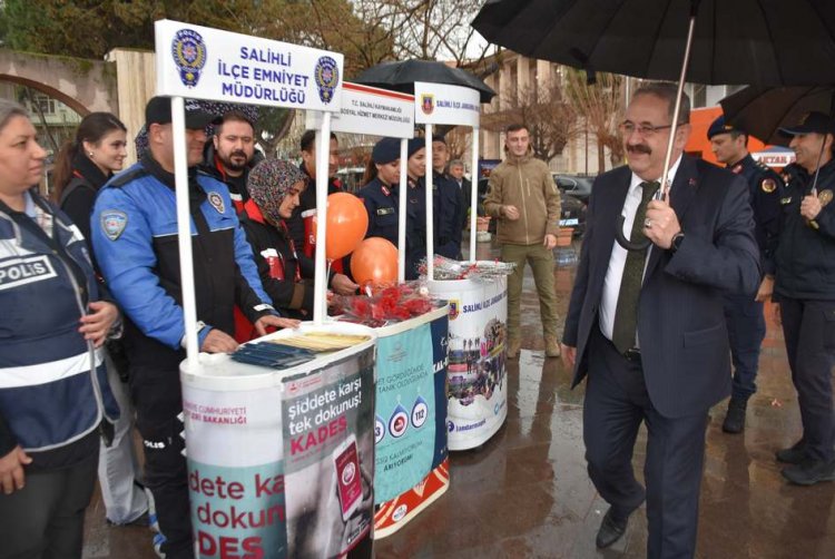
[[[812,111],[833,115],[835,85],[812,87],[746,87],[719,104],[725,120],[766,144],[788,146],[778,129],[794,126]]]

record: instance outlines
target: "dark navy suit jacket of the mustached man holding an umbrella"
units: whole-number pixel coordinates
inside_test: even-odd
[[[598,327],[616,222],[630,180],[628,167],[606,173],[589,199],[563,334],[563,343],[577,347],[572,388],[588,373],[587,342]],[[670,205],[685,238],[676,253],[652,245],[638,305],[638,337],[652,405],[676,418],[703,413],[729,393],[721,295],[754,293],[760,272],[748,185],[741,177],[684,156]]]

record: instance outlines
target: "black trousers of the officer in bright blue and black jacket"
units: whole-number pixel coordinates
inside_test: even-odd
[[[188,502],[188,465],[183,455],[185,429],[179,372],[144,375],[131,371],[130,393],[136,426],[145,450],[145,486],[154,496],[166,559],[194,558],[191,511]]]

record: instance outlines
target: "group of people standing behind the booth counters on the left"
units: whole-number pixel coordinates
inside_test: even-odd
[[[312,315],[315,131],[301,139],[299,166],[264,159],[245,111],[185,109],[198,344],[233,352]],[[122,170],[125,125],[86,116],[55,158],[49,200],[32,187],[47,156],[36,129],[21,106],[0,102],[0,557],[80,557],[97,471],[109,523],[151,527],[167,558],[194,553],[179,437],[186,339],[170,100],[150,99],[145,117],[139,161]],[[460,257],[464,194],[438,145],[436,246]],[[335,135],[330,149],[332,194],[342,190]],[[410,278],[425,257],[425,165],[422,140],[412,140]],[[396,244],[399,141],[375,146],[370,171],[360,193],[366,236]],[[327,284],[342,295],[360,288],[347,258],[333,263]]]

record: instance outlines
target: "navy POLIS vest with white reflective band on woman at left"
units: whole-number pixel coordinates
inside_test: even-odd
[[[31,196],[52,216],[51,237],[0,203],[0,455],[69,445],[119,415],[104,355],[78,332],[99,300],[85,238]]]

